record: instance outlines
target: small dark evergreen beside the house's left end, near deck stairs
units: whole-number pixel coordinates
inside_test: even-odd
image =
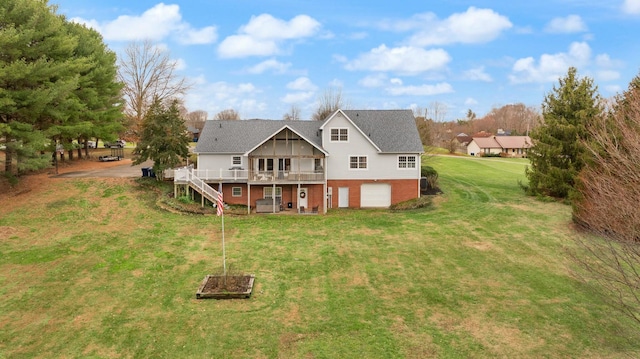
[[[133,151],[138,158],[134,164],[153,160],[156,178],[163,179],[165,169],[180,165],[189,156],[189,136],[180,117],[178,101],[167,108],[155,98],[142,121],[140,141]]]

